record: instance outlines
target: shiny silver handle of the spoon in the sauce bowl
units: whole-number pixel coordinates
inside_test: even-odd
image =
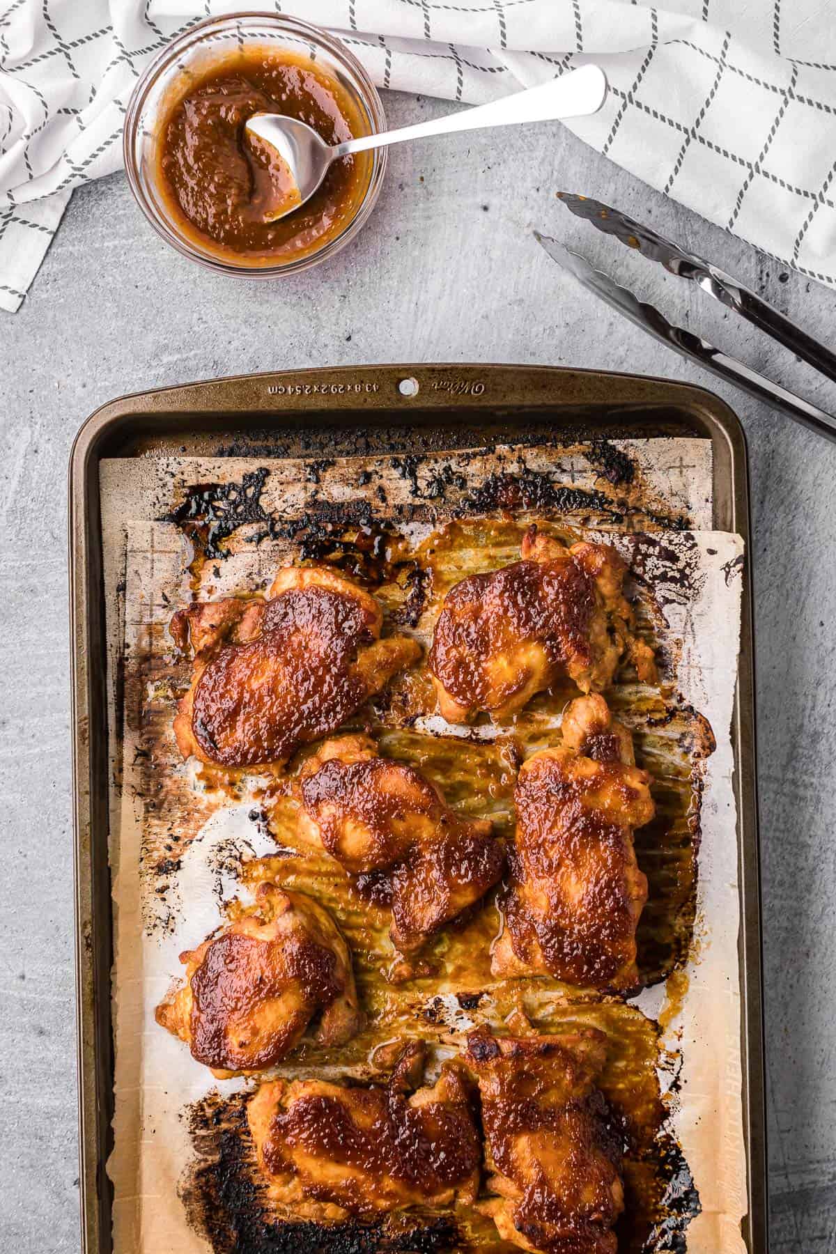
[[[551,122],[555,118],[578,118],[597,113],[607,97],[607,75],[598,65],[584,65],[572,74],[515,92],[501,100],[480,104],[475,109],[462,109],[446,118],[419,122],[414,127],[387,130],[379,135],[361,135],[336,144],[333,157],[366,152],[368,148],[386,148],[405,139],[424,139],[426,135],[445,135],[455,130],[478,130],[481,127],[506,127],[513,122]]]

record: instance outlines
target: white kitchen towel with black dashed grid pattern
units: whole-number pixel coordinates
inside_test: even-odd
[[[0,308],[74,187],[122,163],[144,65],[229,0],[0,0]],[[836,283],[836,0],[247,0],[342,34],[375,82],[481,103],[587,59],[572,129],[801,273]]]

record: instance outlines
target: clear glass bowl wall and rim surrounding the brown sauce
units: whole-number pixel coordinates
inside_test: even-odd
[[[158,179],[158,143],[160,122],[167,115],[172,99],[183,94],[189,78],[196,80],[221,60],[227,51],[237,51],[242,44],[267,48],[287,48],[297,56],[307,53],[311,60],[337,79],[353,100],[367,123],[367,134],[386,129],[384,105],[377,88],[368,78],[357,58],[345,44],[298,18],[283,14],[238,13],[224,18],[208,18],[192,26],[179,39],[165,46],[142,75],[128,105],[124,128],[125,172],[130,189],[139,207],[154,227],[184,257],[199,261],[209,270],[238,278],[276,278],[308,270],[343,248],[363,226],[375,202],[386,171],[386,149],[375,148],[368,186],[353,217],[340,234],[333,236],[312,252],[290,257],[281,262],[234,262],[229,256],[218,256],[209,245],[204,247],[194,234],[185,234]]]

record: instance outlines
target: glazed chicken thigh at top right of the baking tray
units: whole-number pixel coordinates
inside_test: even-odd
[[[639,678],[656,676],[651,650],[629,632],[627,568],[614,548],[565,548],[531,528],[521,558],[469,576],[445,598],[429,667],[447,722],[483,711],[501,722],[560,676],[600,691],[627,651]]]

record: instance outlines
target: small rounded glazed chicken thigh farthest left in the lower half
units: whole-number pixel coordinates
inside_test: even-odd
[[[241,918],[180,962],[185,983],[157,1007],[157,1022],[219,1078],[273,1066],[320,1012],[322,1045],[342,1045],[361,1026],[346,942],[302,893],[259,884]]]

